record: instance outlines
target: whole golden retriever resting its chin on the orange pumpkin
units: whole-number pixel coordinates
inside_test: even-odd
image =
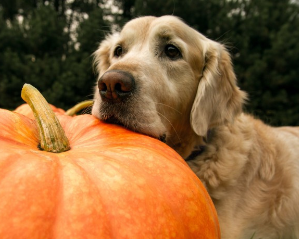
[[[174,16],[149,16],[107,36],[94,58],[92,114],[185,158],[213,199],[222,239],[299,239],[299,128],[242,112],[246,93],[222,44]]]

